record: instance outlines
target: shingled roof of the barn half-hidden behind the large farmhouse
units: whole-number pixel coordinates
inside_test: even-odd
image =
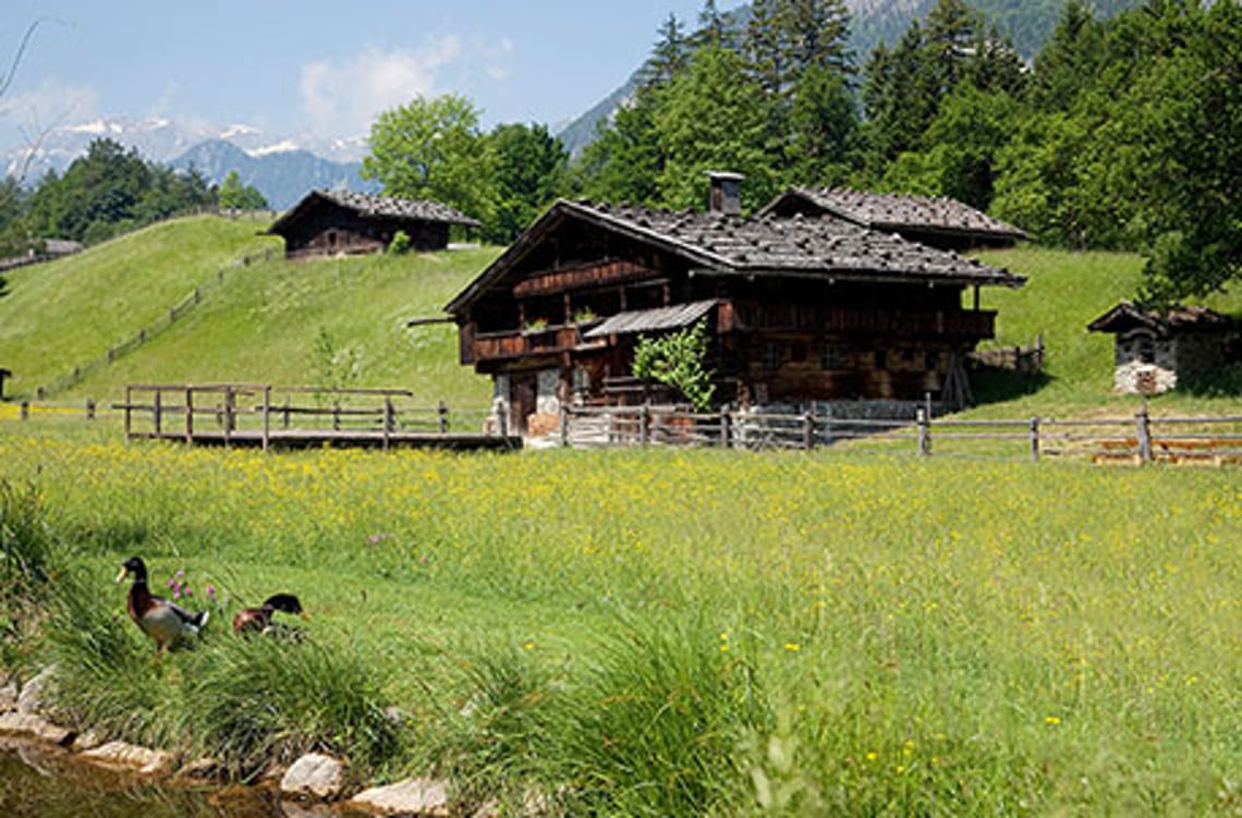
[[[759,216],[784,212],[802,202],[874,230],[958,232],[1009,241],[1027,238],[1017,227],[955,199],[873,194],[845,187],[792,187],[759,211]]]

